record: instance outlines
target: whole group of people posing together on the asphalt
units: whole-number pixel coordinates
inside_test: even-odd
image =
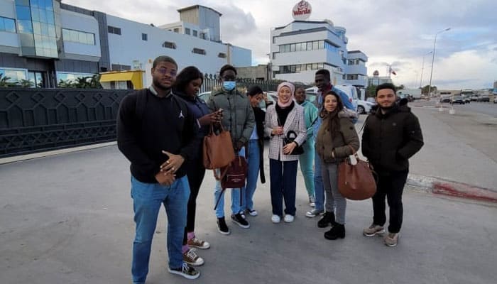
[[[155,58],[150,87],[124,97],[117,116],[119,150],[131,162],[131,198],[136,234],[133,241],[133,283],[145,283],[158,212],[161,204],[168,216],[168,271],[195,279],[203,258],[196,249],[210,244],[195,235],[196,200],[205,168],[202,139],[211,129],[229,131],[237,155],[246,157],[246,186],[231,191],[231,221],[250,227],[247,215],[258,215],[253,195],[258,179],[266,182],[263,170],[264,137],[269,136],[271,222],[295,219],[297,165],[304,177],[310,209],[306,217],[321,216],[317,226],[331,226],[326,239],[345,237],[346,199],[338,188],[338,165],[359,150],[354,124],[358,117],[349,97],[330,82],[328,70],[318,70],[317,106],[307,102],[305,89],[290,82],[278,85],[272,104],[260,87],[247,94],[236,89],[236,69],[219,70],[222,87],[204,102],[197,97],[202,72],[178,64],[168,56]],[[364,236],[383,234],[386,204],[390,224],[385,244],[396,246],[403,219],[402,193],[408,175],[408,158],[423,145],[420,124],[407,106],[395,103],[395,87],[376,89],[378,109],[364,125],[362,152],[378,173],[373,200],[373,222]],[[259,106],[266,101],[266,111]],[[216,180],[214,188],[217,229],[230,234],[224,217],[224,192]]]

